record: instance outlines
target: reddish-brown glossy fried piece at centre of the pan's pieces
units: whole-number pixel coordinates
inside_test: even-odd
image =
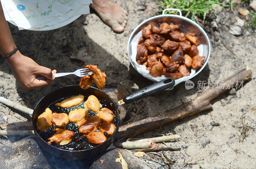
[[[98,129],[100,125],[100,118],[98,116],[92,116],[85,119],[79,128],[80,133],[87,134],[89,132],[94,132]]]

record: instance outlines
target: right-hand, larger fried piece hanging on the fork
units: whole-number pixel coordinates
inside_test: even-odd
[[[95,82],[95,84],[97,85],[97,87],[102,90],[105,87],[105,83],[106,83],[106,74],[105,72],[101,72],[100,69],[97,68],[97,65],[87,65],[84,68],[90,68],[94,73],[91,75],[92,80]]]

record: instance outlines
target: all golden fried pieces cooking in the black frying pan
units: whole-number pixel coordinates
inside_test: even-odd
[[[83,101],[84,96],[79,94],[56,103],[55,106],[63,108],[76,107],[81,106],[80,104]],[[88,110],[95,112],[96,116],[87,118]],[[46,108],[45,112],[40,114],[36,120],[36,129],[47,132],[47,128],[54,125],[56,129],[53,129],[53,131],[57,132],[48,138],[50,140],[48,143],[54,142],[59,145],[66,145],[72,140],[75,132],[61,128],[65,128],[68,122],[76,123],[79,133],[86,134],[83,136],[87,137],[90,143],[101,144],[116,129],[116,126],[111,123],[113,119],[113,112],[106,107],[102,107],[99,100],[94,95],[90,95],[84,102],[84,108],[74,109],[69,114],[52,113],[50,108]],[[98,129],[100,131],[96,131]]]

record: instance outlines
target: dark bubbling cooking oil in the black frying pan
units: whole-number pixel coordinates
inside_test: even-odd
[[[69,97],[71,97],[71,96],[64,97],[62,99],[58,99],[55,102],[51,103],[48,107],[52,110],[52,112],[69,114],[69,112],[71,110],[84,108],[84,101],[88,98],[88,96],[84,96],[84,101],[76,107],[63,108],[63,107],[57,107],[54,105],[55,103],[61,102],[62,100],[67,99]],[[100,101],[100,104],[102,105],[102,107],[107,107],[114,113],[114,120],[112,121],[112,123],[116,126],[117,125],[117,116],[115,115],[116,112],[113,109],[113,107],[111,106],[111,103],[109,103],[106,99],[102,99],[99,101]],[[87,118],[92,117],[92,116],[96,116],[96,114],[93,111],[89,110]],[[38,131],[38,134],[43,138],[44,141],[48,142],[49,141],[48,138],[50,138],[52,135],[54,135],[56,133],[56,131],[52,131],[52,129],[55,129],[55,128],[56,127],[52,125],[50,128],[47,129],[47,132]],[[79,150],[90,149],[92,147],[97,146],[95,144],[90,143],[88,141],[88,139],[83,136],[84,135],[83,133],[79,133],[78,126],[75,123],[68,122],[68,124],[64,128],[61,128],[61,129],[67,129],[67,130],[73,131],[73,132],[75,132],[75,135],[73,136],[71,142],[68,143],[67,145],[61,146],[59,144],[52,142],[52,145],[55,147],[58,147],[63,150],[79,151]],[[98,129],[96,131],[100,131],[100,130]]]

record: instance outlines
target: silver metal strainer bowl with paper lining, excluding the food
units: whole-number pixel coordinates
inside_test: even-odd
[[[164,14],[165,11],[167,10],[175,10],[179,11],[180,15],[174,15],[174,14]],[[129,37],[128,44],[127,44],[127,54],[129,57],[129,60],[135,70],[137,70],[140,75],[148,78],[149,80],[152,80],[154,82],[161,81],[167,77],[164,77],[162,75],[161,77],[152,77],[149,75],[148,71],[142,67],[142,65],[139,65],[136,62],[136,55],[137,55],[137,45],[139,42],[139,38],[142,36],[141,31],[143,28],[148,26],[149,24],[151,25],[158,25],[163,22],[167,22],[168,24],[173,23],[173,24],[178,24],[180,25],[180,32],[183,33],[196,33],[197,37],[200,40],[200,45],[197,47],[199,49],[199,55],[200,56],[205,56],[205,61],[203,67],[199,70],[191,70],[191,73],[189,76],[186,77],[181,77],[179,79],[175,80],[175,85],[178,85],[179,83],[186,81],[188,79],[191,79],[195,77],[199,72],[201,72],[205,65],[207,64],[210,53],[211,53],[211,45],[210,45],[210,40],[207,36],[207,34],[204,32],[203,28],[199,26],[196,22],[192,21],[191,19],[185,18],[181,15],[181,11],[178,9],[173,9],[173,8],[167,8],[163,11],[162,15],[157,15],[155,17],[148,18],[147,20],[143,21],[138,25],[132,32],[132,34]],[[144,66],[145,67],[145,66]]]

